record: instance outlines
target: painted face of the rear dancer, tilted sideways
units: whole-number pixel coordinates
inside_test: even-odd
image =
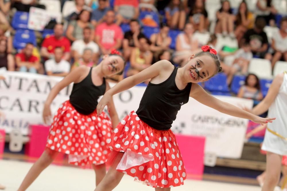
[[[102,72],[105,76],[113,76],[124,69],[124,60],[120,56],[112,55],[102,61]]]

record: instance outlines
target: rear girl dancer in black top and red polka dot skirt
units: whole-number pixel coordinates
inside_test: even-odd
[[[69,163],[77,166],[92,164],[96,185],[106,174],[105,162],[110,149],[106,140],[119,122],[113,101],[110,102],[110,119],[101,112],[97,117],[98,98],[110,89],[106,76],[123,71],[125,61],[119,52],[112,51],[96,67],[79,66],[51,90],[44,106],[44,122],[51,117],[50,105],[56,95],[74,82],[70,100],[64,102],[55,114],[46,150],[32,166],[19,191],[26,190],[38,175],[51,164],[58,152],[69,155]]]

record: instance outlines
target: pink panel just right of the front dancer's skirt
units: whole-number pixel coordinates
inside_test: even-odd
[[[187,178],[202,180],[205,137],[177,134],[176,138],[183,157]]]

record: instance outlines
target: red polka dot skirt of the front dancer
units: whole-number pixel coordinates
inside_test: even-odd
[[[132,111],[107,140],[113,153],[124,152],[117,170],[152,187],[181,186],[185,167],[172,131],[156,130]]]

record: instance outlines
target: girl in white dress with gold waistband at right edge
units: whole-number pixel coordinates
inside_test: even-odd
[[[248,111],[248,109],[245,109]],[[267,127],[262,150],[266,155],[266,178],[262,191],[274,190],[281,172],[282,155],[287,155],[287,73],[278,74],[273,80],[266,97],[253,108],[255,115],[268,110],[268,115],[277,119]]]

